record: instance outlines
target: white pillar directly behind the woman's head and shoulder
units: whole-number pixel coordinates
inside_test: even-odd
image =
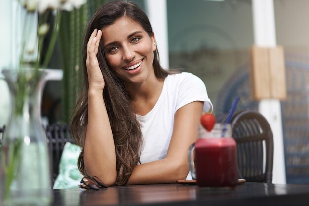
[[[145,0],[147,16],[153,27],[160,64],[164,69],[169,68],[168,60],[168,32],[166,0]]]

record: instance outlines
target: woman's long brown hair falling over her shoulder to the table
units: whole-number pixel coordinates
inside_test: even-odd
[[[113,24],[117,19],[126,16],[139,23],[150,37],[153,30],[147,15],[134,3],[113,1],[103,5],[92,16],[86,29],[83,41],[83,89],[77,100],[71,117],[71,132],[76,143],[82,147],[78,158],[80,172],[87,176],[83,153],[88,123],[88,74],[86,68],[87,43],[94,29],[102,29]],[[113,132],[116,150],[116,185],[125,185],[134,167],[140,161],[142,133],[136,115],[131,107],[130,98],[123,80],[109,68],[105,59],[102,43],[97,54],[99,66],[104,77],[105,87],[103,98]],[[164,70],[159,63],[159,53],[154,51],[154,73],[159,79],[164,79],[170,72]]]

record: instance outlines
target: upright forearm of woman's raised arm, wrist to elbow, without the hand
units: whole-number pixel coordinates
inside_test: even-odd
[[[106,184],[116,181],[116,155],[110,121],[102,91],[89,91],[88,125],[84,145],[84,163],[90,176]]]

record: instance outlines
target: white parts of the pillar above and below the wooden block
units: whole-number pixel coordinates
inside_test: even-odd
[[[261,47],[276,46],[273,0],[252,0],[254,43]],[[260,101],[259,111],[273,132],[274,157],[272,183],[286,183],[281,105],[277,99]]]

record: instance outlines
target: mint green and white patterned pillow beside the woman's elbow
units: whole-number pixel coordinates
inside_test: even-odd
[[[77,160],[81,148],[67,142],[64,145],[59,163],[59,175],[56,178],[54,189],[78,188],[82,178],[77,167]]]

